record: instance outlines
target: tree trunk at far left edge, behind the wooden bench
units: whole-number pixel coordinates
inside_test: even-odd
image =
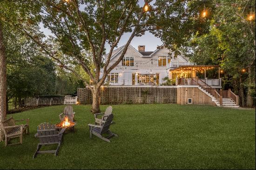
[[[5,46],[3,42],[2,25],[0,22],[0,121],[6,119],[6,92],[7,92],[7,80],[6,80],[6,56]],[[0,141],[4,138],[3,131],[0,129]]]

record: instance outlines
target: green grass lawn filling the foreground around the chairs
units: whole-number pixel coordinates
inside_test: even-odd
[[[58,123],[64,105],[8,115],[30,118],[22,145],[0,143],[0,169],[255,169],[255,110],[199,105],[113,105],[119,137],[89,138],[90,105],[74,105],[75,131],[61,150],[33,159],[36,127]],[[104,111],[107,105],[102,105]]]

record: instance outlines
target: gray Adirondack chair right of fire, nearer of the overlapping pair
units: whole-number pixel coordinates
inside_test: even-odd
[[[90,130],[90,138],[92,138],[92,135],[95,135],[96,137],[101,138],[104,141],[110,142],[109,138],[111,137],[118,137],[117,134],[112,133],[109,130],[109,126],[113,120],[114,116],[113,114],[110,114],[103,125],[96,125],[96,124],[88,124],[89,130]],[[103,137],[102,134],[107,133],[108,137]]]

